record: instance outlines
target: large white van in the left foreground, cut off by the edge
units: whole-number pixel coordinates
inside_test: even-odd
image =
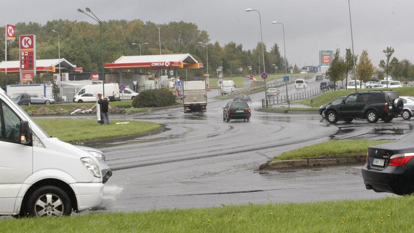
[[[95,156],[48,136],[0,88],[0,215],[62,216],[101,204]]]

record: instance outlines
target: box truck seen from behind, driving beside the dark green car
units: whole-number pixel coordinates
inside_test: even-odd
[[[184,113],[206,112],[206,80],[183,81],[183,106]]]

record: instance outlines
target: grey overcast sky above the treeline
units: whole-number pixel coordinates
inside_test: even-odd
[[[69,19],[94,22],[77,8],[90,7],[101,19],[141,19],[155,23],[186,21],[206,30],[221,45],[234,41],[244,49],[260,41],[277,42],[283,54],[282,25],[285,24],[286,56],[299,66],[318,64],[319,50],[351,47],[348,0],[0,0],[0,23]],[[4,7],[6,6],[6,7]],[[367,49],[374,66],[384,59],[382,50],[395,48],[398,59],[413,60],[413,0],[351,0],[355,53]],[[161,34],[162,37],[162,34]],[[162,40],[162,38],[161,38]]]

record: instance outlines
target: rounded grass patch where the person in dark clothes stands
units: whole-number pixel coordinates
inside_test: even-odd
[[[110,116],[109,116],[110,120]],[[66,142],[78,142],[140,134],[160,128],[160,124],[128,120],[129,124],[115,124],[126,120],[110,120],[100,125],[96,119],[35,119],[49,135]]]

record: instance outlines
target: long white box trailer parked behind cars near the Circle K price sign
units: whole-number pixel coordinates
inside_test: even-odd
[[[7,95],[11,96],[14,93],[37,94],[47,98],[53,98],[52,84],[23,84],[23,85],[7,85]]]

